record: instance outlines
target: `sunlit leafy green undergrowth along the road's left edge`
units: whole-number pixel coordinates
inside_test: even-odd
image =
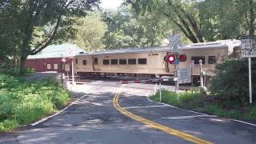
[[[0,74],[0,132],[43,118],[69,101],[69,91],[51,79],[26,83]]]

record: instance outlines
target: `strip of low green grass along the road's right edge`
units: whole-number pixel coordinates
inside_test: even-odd
[[[155,102],[159,102],[159,92],[150,97]],[[162,102],[177,106],[186,110],[194,110],[206,114],[214,114],[220,117],[235,118],[250,122],[256,122],[256,106],[247,106],[242,109],[225,109],[224,102],[210,102],[210,96],[201,95],[199,92],[191,94],[182,92],[178,95],[172,91],[162,90]],[[239,106],[234,106],[239,107]]]

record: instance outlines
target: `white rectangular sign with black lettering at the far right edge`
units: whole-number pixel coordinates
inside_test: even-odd
[[[256,38],[241,40],[242,58],[256,57]]]

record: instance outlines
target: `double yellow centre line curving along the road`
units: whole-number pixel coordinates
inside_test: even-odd
[[[120,88],[120,90],[114,95],[114,99],[113,99],[113,105],[114,107],[122,114],[126,115],[127,117],[129,118],[132,118],[134,119],[135,121],[137,122],[141,122],[143,124],[145,124],[146,126],[150,126],[151,128],[154,128],[154,129],[158,129],[158,130],[162,130],[163,132],[166,132],[167,134],[171,134],[171,135],[174,135],[178,138],[182,138],[186,141],[190,141],[190,142],[194,142],[194,143],[204,143],[204,144],[211,144],[212,142],[208,142],[208,141],[205,141],[201,138],[196,138],[190,134],[186,134],[186,133],[183,133],[181,131],[178,131],[178,130],[174,130],[170,127],[167,127],[167,126],[163,126],[163,125],[160,125],[156,122],[152,122],[146,118],[142,118],[138,115],[135,115],[135,114],[132,114],[130,113],[129,111],[125,110],[124,108],[122,108],[121,106],[119,106],[118,104],[118,97],[119,97],[119,94],[121,92],[121,90],[125,87],[125,85],[122,85],[122,87]]]

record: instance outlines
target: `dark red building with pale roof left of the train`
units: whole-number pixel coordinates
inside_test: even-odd
[[[69,73],[72,58],[81,53],[83,54],[85,51],[75,45],[47,46],[39,54],[30,55],[26,60],[26,66],[36,72],[57,71],[58,73],[65,67],[66,73]],[[62,62],[62,58],[66,58],[66,62]]]

